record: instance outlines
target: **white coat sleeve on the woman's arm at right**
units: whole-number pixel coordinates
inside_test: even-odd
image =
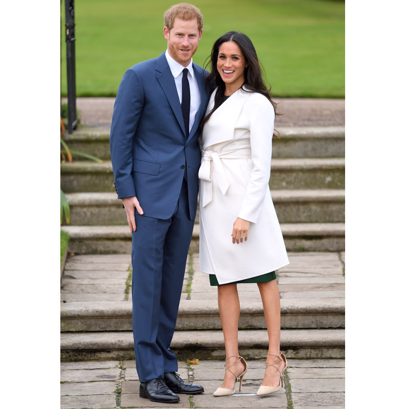
[[[248,98],[246,102],[250,105],[248,108],[249,131],[254,167],[247,183],[246,194],[238,217],[257,223],[270,178],[271,140],[275,112],[273,106],[263,95],[255,94],[254,97]]]

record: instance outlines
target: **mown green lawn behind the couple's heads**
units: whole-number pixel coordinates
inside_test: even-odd
[[[130,66],[165,51],[163,13],[172,4],[163,0],[75,2],[77,95],[115,96]],[[205,22],[193,58],[197,64],[203,66],[217,37],[242,31],[252,39],[274,95],[345,96],[344,2],[206,0],[194,4]],[[63,23],[64,18],[62,13]],[[61,44],[62,94],[66,95],[65,36]]]

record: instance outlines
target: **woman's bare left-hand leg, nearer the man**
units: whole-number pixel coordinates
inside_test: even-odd
[[[239,355],[238,330],[240,316],[240,301],[237,293],[237,284],[225,284],[218,287],[218,303],[221,326],[223,328],[224,346],[226,349],[226,358]],[[226,367],[234,365],[239,358],[230,358],[226,360]],[[230,368],[234,374],[239,375],[244,371],[242,362]],[[225,371],[224,380],[221,388],[234,389],[236,378],[229,371]]]

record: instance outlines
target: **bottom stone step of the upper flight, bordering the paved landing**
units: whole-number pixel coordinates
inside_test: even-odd
[[[69,252],[131,253],[131,233],[123,226],[62,226],[70,235]],[[345,249],[345,223],[282,223],[281,231],[289,252],[330,251]],[[199,226],[193,228],[190,249],[197,252],[199,246]]]

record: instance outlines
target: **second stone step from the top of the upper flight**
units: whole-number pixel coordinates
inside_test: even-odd
[[[270,189],[344,189],[345,158],[275,158]],[[72,192],[115,192],[111,162],[61,164],[61,189]]]

